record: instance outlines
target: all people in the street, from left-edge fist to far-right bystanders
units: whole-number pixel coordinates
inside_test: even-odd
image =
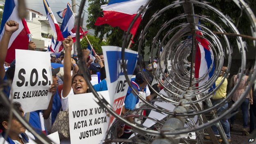
[[[8,43],[11,35],[18,30],[18,23],[14,21],[8,21],[5,24],[5,33],[0,41],[0,78],[2,80],[10,80],[14,79],[15,73],[15,60],[11,64],[5,63],[5,57],[7,54]],[[52,96],[50,99],[50,103],[48,105],[47,110],[38,110],[30,113],[24,114],[24,111],[21,108],[21,105],[17,102],[13,103],[14,108],[20,112],[20,114],[29,121],[30,125],[37,130],[39,134],[45,133],[48,135],[52,133],[51,127],[55,122],[57,114],[60,111],[68,111],[69,103],[68,98],[70,95],[75,94],[85,94],[89,93],[90,89],[88,87],[86,78],[89,78],[91,85],[93,85],[96,91],[105,91],[107,90],[107,82],[105,66],[104,66],[104,57],[103,54],[98,54],[95,56],[95,60],[89,57],[89,50],[82,50],[82,59],[78,59],[77,55],[71,55],[73,40],[71,37],[67,37],[63,42],[64,52],[59,57],[55,54],[50,55],[50,62],[63,64],[63,67],[59,67],[56,69],[52,69],[52,78],[53,83],[49,87],[49,91],[52,92]],[[35,50],[36,45],[33,42],[29,43],[28,50]],[[89,68],[89,72],[84,75],[79,70],[78,61],[83,60],[86,61],[87,66]],[[151,66],[144,66],[144,71],[140,71],[139,66],[135,67],[135,71],[133,73],[133,77],[131,79],[131,85],[133,89],[140,92],[142,96],[146,99],[146,101],[151,101],[155,98],[155,91],[159,92],[162,87],[160,84],[156,83],[153,85],[153,89],[149,88],[146,83],[146,79],[149,83],[153,81],[153,75],[151,73],[152,69],[156,68],[157,62],[153,63]],[[216,81],[216,86],[220,84],[223,79],[223,74],[226,72],[226,67],[222,68],[222,73]],[[146,79],[144,77],[146,76]],[[239,75],[235,75],[231,78],[231,85],[235,85]],[[247,86],[248,76],[242,78],[242,83],[240,83],[237,91],[232,97],[232,102],[240,97],[240,95],[245,90]],[[162,80],[162,83],[164,80]],[[219,103],[224,98],[226,98],[226,88],[227,88],[227,80],[225,79],[216,94],[212,98],[212,103],[215,105]],[[6,96],[10,94],[10,87],[8,87],[5,91]],[[242,103],[242,114],[243,114],[243,129],[242,134],[248,135],[251,133],[256,127],[256,90],[253,89],[246,97],[245,101]],[[122,114],[134,110],[139,107],[139,98],[136,94],[134,94],[131,87],[128,88],[128,92],[126,94],[126,99],[123,104]],[[247,123],[248,123],[248,106],[250,104],[250,130],[247,131]],[[226,102],[222,107],[217,110],[217,115],[221,114],[228,108],[228,103]],[[21,123],[14,117],[9,119],[9,109],[3,104],[0,103],[0,129],[2,133],[0,134],[0,143],[6,141],[7,144],[26,144],[28,142],[32,142],[36,140],[36,138],[29,133]],[[149,112],[145,112],[146,115]],[[228,119],[223,119],[221,121],[224,131],[226,133],[228,141],[231,140],[230,137],[230,128],[232,128],[234,123],[234,117],[231,118],[231,122],[229,125]],[[44,124],[42,122],[44,121]],[[128,118],[128,121],[133,122],[133,117]],[[219,135],[216,126],[212,127],[214,133]],[[8,133],[7,133],[8,131]],[[129,138],[132,134],[131,128],[126,126],[124,123],[120,123],[118,128],[118,137],[120,138]],[[7,135],[5,135],[7,134]],[[208,137],[209,138],[209,137]],[[69,143],[70,139],[62,139],[62,142]],[[220,140],[222,141],[222,140]]]

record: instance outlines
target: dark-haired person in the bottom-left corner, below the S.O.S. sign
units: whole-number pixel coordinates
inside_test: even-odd
[[[20,103],[14,102],[13,106],[14,109],[20,112],[23,117],[25,116]],[[12,118],[9,123],[9,114],[9,108],[5,107],[3,104],[0,104],[0,128],[3,130],[3,132],[0,134],[0,143],[28,144],[30,141],[33,141],[33,135],[28,132],[16,118]],[[9,129],[8,135],[6,135],[7,129]]]

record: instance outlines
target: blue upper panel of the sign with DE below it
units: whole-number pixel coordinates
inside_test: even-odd
[[[106,51],[107,63],[110,72],[110,82],[116,81],[120,75],[123,74],[123,68],[121,68],[121,51]],[[128,75],[132,75],[135,65],[137,63],[138,54],[125,52],[126,71]]]

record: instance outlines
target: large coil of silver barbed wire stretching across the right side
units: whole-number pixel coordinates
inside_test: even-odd
[[[85,0],[83,0],[84,2]],[[149,4],[151,3],[152,0],[149,0],[149,2],[142,6],[141,9],[139,10],[137,16],[131,23],[128,31],[123,35],[123,45],[122,45],[122,68],[123,72],[125,73],[126,80],[128,81],[128,85],[131,87],[130,81],[128,80],[128,76],[126,73],[126,65],[124,63],[124,50],[128,46],[128,42],[130,40],[130,34],[129,31],[133,25],[133,23],[136,21],[136,19],[139,17],[140,14],[144,14],[144,12],[149,9]],[[253,37],[256,36],[256,23],[255,23],[255,16],[249,6],[243,1],[243,0],[233,0],[235,4],[241,9],[241,11],[245,11],[247,14],[247,17],[250,20],[250,25],[251,25],[251,35]],[[83,5],[80,6],[80,9],[82,9]],[[229,92],[229,94],[224,98],[220,103],[217,105],[214,105],[212,107],[207,107],[203,108],[202,107],[202,102],[209,100],[211,96],[219,89],[219,87],[222,85],[224,82],[224,79],[227,78],[230,74],[230,69],[231,69],[231,60],[232,60],[232,47],[230,44],[230,38],[228,38],[226,35],[216,35],[213,31],[221,32],[221,33],[226,33],[226,32],[231,32],[234,34],[239,35],[240,32],[238,28],[230,21],[228,15],[224,15],[221,11],[216,9],[215,7],[211,6],[209,2],[206,1],[198,1],[198,0],[176,0],[171,5],[168,5],[164,7],[163,9],[160,9],[157,11],[149,22],[146,24],[142,32],[139,34],[139,46],[138,46],[138,53],[139,53],[139,58],[138,58],[138,63],[140,66],[140,70],[143,70],[143,58],[141,57],[140,53],[142,50],[143,43],[146,41],[146,37],[149,31],[149,27],[153,25],[153,23],[162,17],[162,14],[165,13],[167,10],[175,10],[177,8],[182,7],[185,12],[184,14],[178,14],[177,16],[174,16],[170,18],[169,21],[165,22],[163,25],[160,26],[159,31],[155,35],[152,43],[151,43],[151,66],[152,66],[152,71],[154,78],[156,82],[160,83],[162,87],[164,87],[164,91],[167,93],[167,95],[163,95],[161,93],[158,93],[153,89],[151,86],[151,83],[149,83],[148,80],[146,80],[147,85],[153,89],[153,91],[158,95],[158,101],[164,101],[166,103],[171,103],[173,105],[182,106],[187,108],[187,110],[183,112],[174,112],[172,110],[167,110],[161,106],[154,105],[153,103],[147,102],[139,93],[138,91],[135,91],[133,87],[133,92],[137,94],[139,99],[145,103],[143,106],[141,106],[139,109],[133,110],[131,112],[128,112],[125,114],[123,117],[115,114],[115,112],[112,110],[111,106],[109,103],[107,103],[101,96],[99,96],[95,91],[92,91],[95,95],[95,97],[98,99],[98,104],[100,106],[106,107],[107,110],[110,112],[110,114],[113,114],[114,117],[117,118],[117,121],[123,121],[127,125],[131,126],[133,131],[135,133],[138,133],[140,135],[152,135],[156,137],[160,137],[160,139],[156,139],[156,143],[158,140],[161,142],[164,142],[167,138],[167,142],[175,142],[173,139],[174,137],[179,137],[179,134],[186,134],[190,132],[200,132],[201,130],[212,126],[213,124],[217,123],[220,119],[223,119],[224,117],[228,118],[231,117],[231,113],[241,105],[241,103],[244,101],[245,96],[247,96],[249,90],[251,89],[252,84],[254,83],[254,80],[256,78],[256,73],[253,71],[256,67],[256,64],[252,66],[252,70],[250,71],[249,78],[248,78],[248,85],[245,89],[245,92],[240,96],[238,101],[236,101],[230,108],[229,110],[226,110],[223,114],[219,115],[215,119],[212,119],[208,122],[202,122],[201,119],[201,114],[207,114],[208,112],[217,109],[218,107],[222,106],[229,98],[231,98],[232,94],[235,92],[235,90],[238,88],[240,82],[242,81],[242,77],[245,75],[245,66],[246,66],[246,54],[245,54],[245,42],[243,41],[242,37],[236,37],[235,40],[237,42],[236,47],[239,49],[239,52],[241,53],[241,66],[240,66],[240,73],[238,82],[236,85],[234,85],[233,89]],[[211,16],[203,16],[200,14],[194,14],[194,7],[200,7],[202,9],[208,9],[209,11],[213,12],[213,14],[216,14],[220,21],[222,23],[216,23],[215,21],[211,20]],[[192,12],[191,12],[192,11]],[[81,17],[81,14],[78,15],[78,18]],[[206,22],[210,23],[213,27],[214,30],[206,27],[205,25],[199,25],[198,23],[195,23],[194,18],[198,18],[201,23]],[[187,20],[185,22],[185,20]],[[78,20],[79,21],[79,20]],[[177,24],[178,23],[178,24]],[[226,25],[225,29],[223,25]],[[201,27],[200,30],[196,30],[196,27]],[[203,36],[196,35],[196,31],[200,31]],[[164,37],[161,38],[160,34],[164,33]],[[189,37],[190,38],[187,38]],[[171,37],[171,38],[170,38]],[[196,45],[195,38],[196,37],[202,37],[206,39],[210,43],[210,53],[211,53],[211,58],[213,59],[212,64],[210,65],[210,69],[206,74],[201,76],[200,78],[194,78],[194,75],[191,71],[187,71],[184,67],[185,64],[188,64],[187,57],[189,56],[189,53],[192,53],[192,59],[194,59],[194,49]],[[78,42],[79,43],[79,42]],[[255,42],[254,42],[255,43]],[[160,55],[160,49],[163,48],[163,51]],[[255,48],[255,44],[254,44]],[[79,49],[79,48],[78,48]],[[159,69],[158,71],[155,71],[153,69],[153,50],[158,51],[158,65]],[[219,74],[221,73],[221,68],[224,66],[224,58],[228,59],[228,64],[227,64],[227,71],[223,75],[223,79],[220,82],[220,84],[213,89],[213,91],[208,92],[208,89],[212,87],[213,84],[215,84],[215,81],[219,77]],[[163,68],[167,68],[167,62],[170,60],[170,65],[171,65],[171,70],[167,71],[169,76],[165,75],[165,72],[163,71]],[[163,62],[163,65],[162,65]],[[193,61],[190,63],[190,69],[193,68],[191,66],[193,64]],[[206,82],[204,82],[203,85],[201,86],[196,86],[197,83],[201,82],[206,78],[206,76],[210,73],[210,71],[215,67],[215,71],[213,72],[213,76]],[[87,70],[87,68],[82,68]],[[144,75],[144,73],[142,73]],[[145,77],[145,75],[144,75]],[[146,78],[146,77],[145,77]],[[167,81],[167,84],[165,83],[162,84],[161,79],[164,78]],[[89,80],[88,82],[89,83]],[[89,84],[89,87],[92,88],[92,86]],[[138,119],[141,118],[146,118],[146,119],[151,119],[154,120],[150,117],[147,116],[140,116],[140,112],[142,110],[154,110],[155,112],[160,112],[162,114],[167,114],[167,117],[179,117],[179,118],[184,118],[184,119],[190,119],[194,116],[198,116],[197,120],[201,121],[199,126],[192,126],[190,125],[187,128],[181,127],[175,130],[171,131],[161,131],[161,127],[163,127],[164,123],[160,123],[160,121],[155,119],[155,125],[158,125],[160,129],[158,130],[152,130],[152,129],[146,129],[144,128],[141,124],[137,123],[130,123],[125,117],[135,117]],[[142,121],[142,120],[141,120]],[[168,119],[166,119],[164,122],[167,122]],[[115,128],[116,126],[112,126],[112,128]],[[110,131],[112,130],[110,128]],[[112,137],[113,138],[108,139],[106,142],[135,142],[134,140],[130,141],[121,141],[117,140],[117,136],[114,135],[113,133]],[[114,136],[113,136],[114,135]],[[200,135],[199,139],[201,139]],[[111,136],[109,136],[111,137]],[[155,137],[154,137],[155,138]],[[153,138],[153,139],[154,139]],[[162,139],[161,139],[162,138]],[[111,141],[112,139],[112,141]],[[168,140],[169,139],[169,140]],[[159,142],[160,142],[159,141]],[[179,141],[179,140],[176,140]],[[199,140],[200,141],[200,140]],[[142,141],[137,141],[137,143],[141,143]],[[144,141],[147,143],[146,141]],[[153,141],[151,141],[153,142]],[[202,142],[202,140],[201,140]]]

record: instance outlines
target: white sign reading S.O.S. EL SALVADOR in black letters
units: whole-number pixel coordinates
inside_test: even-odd
[[[25,112],[46,110],[53,81],[50,53],[16,49],[16,64],[9,98],[18,101]]]

